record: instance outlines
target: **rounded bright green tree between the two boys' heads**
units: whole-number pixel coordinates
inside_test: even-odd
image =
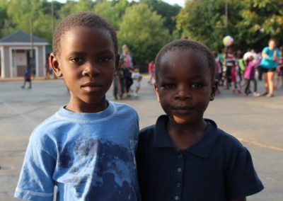
[[[119,44],[120,47],[123,44],[130,47],[139,66],[154,59],[158,50],[171,40],[163,21],[156,11],[143,3],[133,4],[126,9],[117,33]]]

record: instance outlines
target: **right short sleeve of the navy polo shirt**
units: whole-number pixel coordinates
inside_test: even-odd
[[[253,195],[263,189],[253,167],[250,152],[245,147],[241,148],[226,171],[226,197],[228,200]]]

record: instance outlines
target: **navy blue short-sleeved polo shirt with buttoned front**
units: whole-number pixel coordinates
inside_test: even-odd
[[[246,147],[212,120],[187,149],[174,147],[167,115],[139,134],[137,170],[141,199],[221,201],[260,192],[263,185]]]

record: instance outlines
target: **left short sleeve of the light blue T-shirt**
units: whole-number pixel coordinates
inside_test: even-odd
[[[35,134],[35,133],[33,133]],[[56,158],[47,151],[52,147],[48,137],[30,137],[15,197],[23,200],[53,200],[52,175]]]

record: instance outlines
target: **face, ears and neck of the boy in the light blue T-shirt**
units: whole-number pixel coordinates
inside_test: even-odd
[[[52,55],[52,67],[69,88],[68,110],[96,113],[105,109],[117,58],[106,30],[76,26],[62,35],[60,54]]]

